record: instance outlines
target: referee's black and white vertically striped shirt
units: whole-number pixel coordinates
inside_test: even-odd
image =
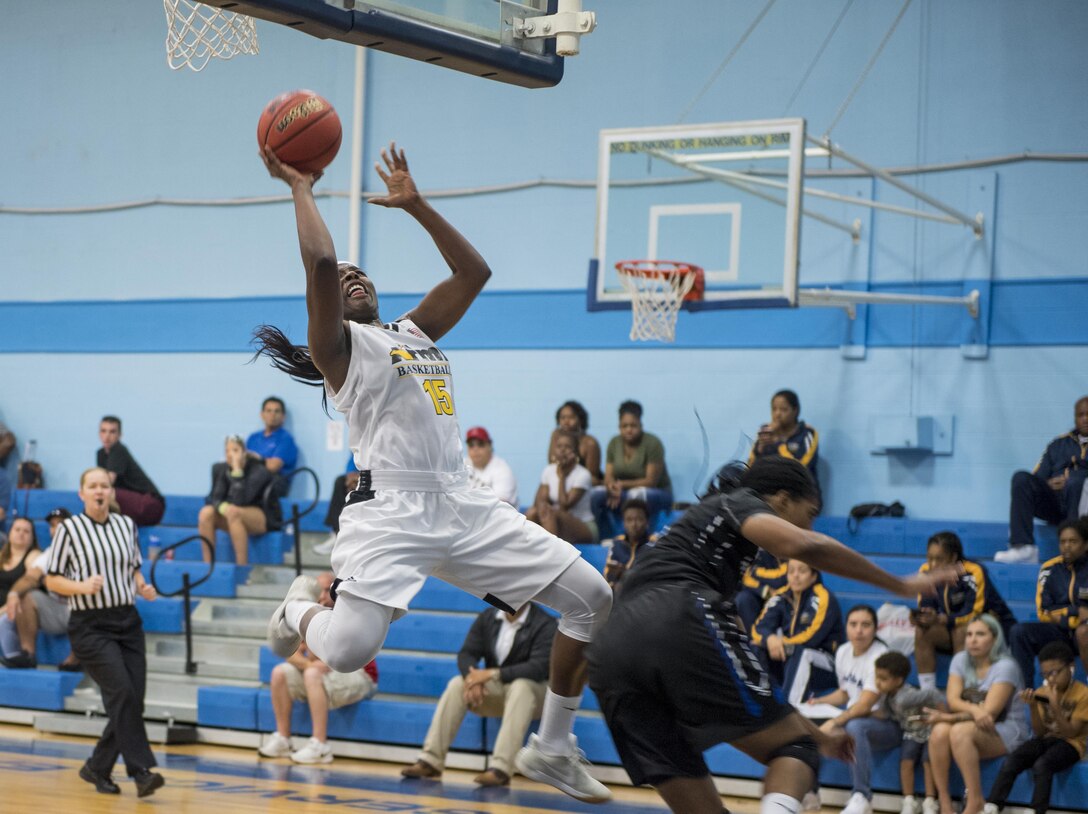
[[[131,517],[111,511],[106,522],[97,522],[81,514],[57,527],[46,574],[77,582],[100,576],[101,591],[67,597],[73,610],[99,610],[135,603],[134,575],[141,563],[136,523]]]

